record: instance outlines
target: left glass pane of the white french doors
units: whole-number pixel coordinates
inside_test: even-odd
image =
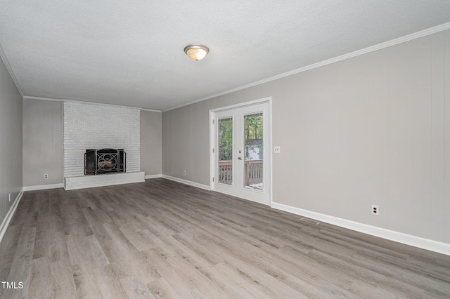
[[[219,119],[218,182],[233,184],[233,118]]]

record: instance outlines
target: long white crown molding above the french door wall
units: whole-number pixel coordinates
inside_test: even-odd
[[[278,80],[278,79],[281,79],[281,78],[284,78],[284,77],[291,76],[293,74],[306,72],[309,69],[315,69],[316,67],[323,67],[324,65],[330,65],[330,64],[332,64],[334,62],[346,60],[346,59],[353,58],[353,57],[356,57],[356,56],[359,56],[359,55],[364,55],[366,53],[371,53],[373,51],[378,51],[380,49],[388,48],[390,46],[395,46],[397,44],[401,44],[401,43],[404,43],[406,41],[412,41],[413,39],[418,39],[418,38],[423,37],[423,36],[428,36],[430,34],[435,34],[437,32],[442,32],[442,31],[444,31],[446,29],[450,29],[450,22],[447,22],[447,23],[444,23],[442,25],[438,25],[438,26],[435,26],[435,27],[431,27],[431,28],[428,28],[428,29],[425,29],[425,30],[422,30],[422,31],[419,31],[419,32],[415,32],[415,33],[412,33],[412,34],[401,36],[401,37],[399,37],[397,39],[392,39],[390,41],[385,41],[385,42],[383,42],[381,44],[376,44],[375,46],[370,46],[370,47],[367,47],[367,48],[363,48],[361,50],[357,50],[357,51],[354,51],[354,52],[351,52],[351,53],[340,55],[340,56],[337,56],[335,58],[330,58],[330,59],[327,59],[327,60],[323,60],[321,62],[316,62],[316,63],[313,63],[312,65],[307,65],[306,67],[300,67],[298,69],[293,69],[292,71],[285,72],[285,73],[282,73],[282,74],[278,74],[276,76],[269,77],[269,78],[266,78],[266,79],[262,79],[262,80],[259,80],[259,81],[256,81],[256,82],[244,85],[244,86],[239,86],[239,87],[236,87],[236,88],[232,88],[232,89],[229,89],[228,91],[222,91],[221,93],[214,93],[213,95],[208,95],[205,98],[200,98],[198,100],[194,100],[192,102],[188,102],[188,103],[183,104],[183,105],[179,105],[179,106],[176,106],[176,107],[173,107],[173,108],[170,108],[170,109],[162,110],[162,112],[167,112],[167,111],[178,109],[178,108],[181,108],[181,107],[184,107],[184,106],[192,105],[192,104],[195,104],[196,102],[202,102],[204,100],[210,100],[212,98],[217,98],[220,95],[226,95],[226,94],[229,94],[229,93],[234,93],[236,91],[242,91],[243,89],[246,89],[246,88],[250,88],[250,87],[253,87],[253,86],[264,84],[264,83],[267,83],[267,82],[270,82],[270,81],[275,81],[275,80]]]

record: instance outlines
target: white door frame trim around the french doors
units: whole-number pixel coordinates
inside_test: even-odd
[[[212,150],[214,149],[214,147],[216,146],[214,144],[214,140],[216,138],[215,136],[215,129],[214,129],[214,114],[217,112],[221,112],[221,111],[225,111],[225,110],[229,110],[229,109],[236,109],[236,108],[243,108],[243,107],[248,107],[248,106],[252,106],[252,105],[257,105],[257,104],[262,104],[262,103],[269,103],[269,119],[264,120],[264,121],[269,121],[269,165],[270,165],[270,178],[269,178],[269,206],[272,205],[272,98],[268,97],[268,98],[261,98],[258,100],[252,100],[249,102],[241,102],[239,104],[235,104],[235,105],[229,105],[226,107],[219,107],[219,108],[214,108],[214,109],[210,109],[210,190],[215,190],[215,185],[216,182],[214,182],[213,178],[214,178],[214,174],[216,171],[216,165],[214,163],[214,153],[212,152]],[[217,150],[217,149],[216,149]],[[265,153],[264,153],[265,155]],[[219,192],[219,191],[217,191]]]

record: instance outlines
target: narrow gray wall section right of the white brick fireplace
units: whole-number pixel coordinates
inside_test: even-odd
[[[141,171],[146,175],[162,173],[162,115],[141,110]]]

